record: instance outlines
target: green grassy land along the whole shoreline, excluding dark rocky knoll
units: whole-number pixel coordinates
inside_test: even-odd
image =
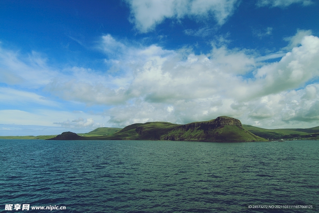
[[[178,140],[178,141],[265,141],[270,140],[319,140],[319,126],[307,129],[263,129],[241,125],[234,118],[221,116],[216,119],[185,125],[169,122],[137,123],[121,128],[97,128],[89,133],[78,133],[82,140]],[[228,120],[227,120],[228,119]],[[228,122],[228,123],[227,123]],[[49,139],[56,135],[0,136],[0,139]]]

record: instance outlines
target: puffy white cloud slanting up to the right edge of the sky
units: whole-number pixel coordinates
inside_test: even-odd
[[[252,85],[258,95],[267,95],[298,88],[318,75],[319,38],[311,35],[305,36],[301,46],[294,47],[279,62],[258,69]],[[257,88],[257,84],[261,87]]]

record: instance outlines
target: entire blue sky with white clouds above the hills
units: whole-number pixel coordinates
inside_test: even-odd
[[[0,135],[319,126],[319,1],[0,1]]]

